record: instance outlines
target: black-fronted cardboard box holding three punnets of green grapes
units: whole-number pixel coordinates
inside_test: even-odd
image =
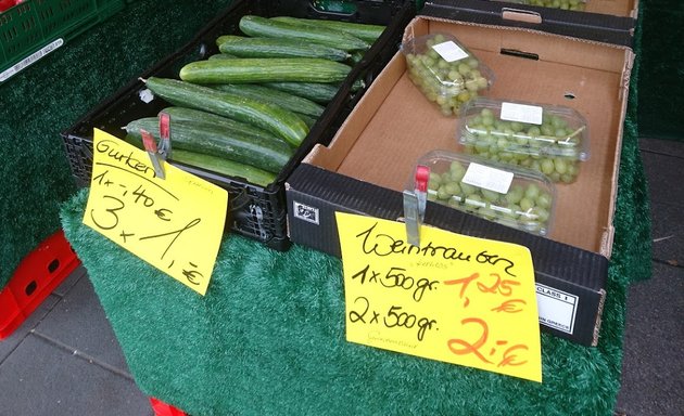
[[[517,243],[532,251],[542,328],[595,346],[606,296],[622,127],[634,55],[598,43],[519,27],[418,16],[404,39],[455,35],[496,76],[489,96],[568,105],[587,119],[591,158],[557,187],[548,237],[428,203],[427,224]],[[519,51],[523,54],[502,53]],[[522,55],[528,57],[522,57]],[[535,58],[529,58],[534,56]],[[340,256],[334,211],[401,220],[402,192],[425,153],[458,151],[457,119],[442,116],[395,54],[329,145],[316,145],[286,183],[293,243]]]

